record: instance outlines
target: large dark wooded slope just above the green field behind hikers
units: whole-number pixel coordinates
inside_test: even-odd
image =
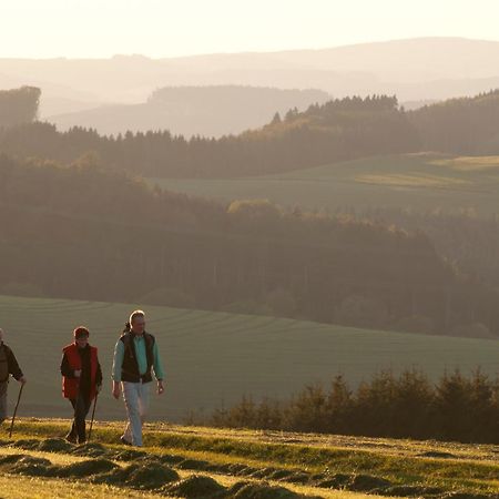
[[[0,156],[0,207],[3,294],[499,332],[497,294],[420,233],[151,190],[92,155],[71,167]]]

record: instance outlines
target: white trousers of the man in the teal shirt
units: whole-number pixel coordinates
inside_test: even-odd
[[[142,447],[142,425],[149,410],[151,383],[122,381],[121,387],[129,417],[123,438]]]

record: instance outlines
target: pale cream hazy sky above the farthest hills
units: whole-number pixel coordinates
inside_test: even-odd
[[[153,58],[414,37],[499,40],[498,0],[0,0],[0,57]]]

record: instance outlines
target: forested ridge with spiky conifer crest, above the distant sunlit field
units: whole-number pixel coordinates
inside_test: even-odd
[[[346,102],[346,101],[337,101]],[[329,109],[329,108],[327,108]],[[258,175],[371,154],[418,149],[414,128],[396,99],[359,100],[330,120],[291,111],[282,121],[237,136],[190,140],[167,131],[100,136],[73,128],[58,132],[33,123],[0,132],[0,151],[27,157],[70,162],[96,152],[106,167],[143,176],[217,177]]]

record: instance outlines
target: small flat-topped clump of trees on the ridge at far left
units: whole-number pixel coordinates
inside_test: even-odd
[[[40,95],[41,91],[35,86],[0,90],[0,128],[34,121],[38,115]]]

